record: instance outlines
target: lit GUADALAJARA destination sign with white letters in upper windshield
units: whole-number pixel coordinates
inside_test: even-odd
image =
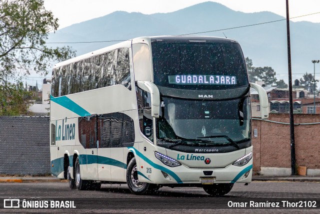
[[[179,85],[235,85],[235,76],[225,75],[169,75],[169,84]]]

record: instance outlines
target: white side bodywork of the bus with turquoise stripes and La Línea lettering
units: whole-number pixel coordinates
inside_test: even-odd
[[[102,158],[112,158],[115,160],[117,165],[119,166],[112,166],[113,167],[113,178],[112,180],[116,181],[125,181],[125,169],[126,169],[126,157],[123,155],[123,147],[119,146],[115,148],[114,152],[112,153],[113,148],[110,148],[110,153],[106,154],[109,156],[105,156],[101,154],[101,158],[97,155],[97,147],[95,148],[88,148],[87,151],[84,147],[86,147],[86,142],[83,143],[84,146],[80,143],[78,135],[78,118],[88,117],[92,115],[100,115],[100,114],[107,114],[107,113],[114,113],[114,112],[123,112],[123,111],[131,111],[132,109],[136,109],[136,100],[135,100],[135,91],[128,90],[122,85],[114,85],[108,86],[105,88],[99,88],[91,91],[85,91],[76,94],[70,94],[54,99],[66,99],[68,102],[59,102],[57,100],[53,101],[51,104],[51,118],[60,118],[57,120],[57,133],[60,137],[57,140],[57,146],[59,147],[57,158],[61,158],[62,161],[59,161],[59,168],[62,169],[59,172],[59,178],[63,178],[63,156],[65,149],[61,149],[63,145],[77,145],[74,149],[70,149],[69,153],[74,154],[74,150],[79,152],[79,162],[80,162],[80,170],[81,170],[81,178],[84,180],[99,180],[98,171],[102,170],[102,166],[98,166],[98,161]],[[71,105],[72,104],[72,105]],[[76,108],[75,108],[75,107]],[[53,111],[54,109],[54,111]],[[123,110],[123,111],[122,111]],[[126,113],[126,115],[130,116],[131,112]],[[69,118],[66,116],[74,116],[73,118]],[[63,123],[63,124],[62,124]],[[74,123],[74,126],[73,126]],[[69,126],[67,130],[66,125]],[[63,127],[63,128],[62,128]],[[71,137],[70,139],[70,127],[71,130]],[[62,133],[63,131],[63,133]],[[74,131],[74,139],[73,139],[73,131]],[[84,131],[84,134],[86,131]],[[62,140],[62,136],[64,139]],[[65,138],[68,137],[68,138]],[[76,140],[77,138],[77,140]],[[93,154],[92,154],[93,150]],[[121,151],[120,151],[121,150]],[[112,157],[110,157],[113,155]],[[93,160],[94,159],[94,160]],[[110,159],[111,160],[111,159]],[[125,160],[125,161],[124,161]],[[112,162],[112,161],[111,161]],[[121,163],[121,164],[119,164]],[[114,163],[108,163],[112,165]],[[87,171],[87,168],[89,171]],[[108,168],[108,166],[107,166]],[[111,170],[111,166],[110,166]],[[103,170],[102,170],[103,171]],[[101,173],[102,173],[101,171]],[[104,175],[105,174],[105,175]],[[109,173],[102,173],[101,180],[106,180],[109,177]],[[108,179],[110,180],[110,179]]]

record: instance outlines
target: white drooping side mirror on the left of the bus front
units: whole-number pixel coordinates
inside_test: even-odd
[[[154,83],[148,81],[136,81],[137,86],[151,95],[151,116],[159,118],[160,113],[160,93]]]

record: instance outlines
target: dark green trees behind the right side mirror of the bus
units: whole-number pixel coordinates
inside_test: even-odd
[[[245,58],[249,82],[264,81],[265,85],[276,83],[275,71],[271,67],[253,67],[252,60]]]

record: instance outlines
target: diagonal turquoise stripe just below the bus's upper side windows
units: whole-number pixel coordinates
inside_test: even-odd
[[[62,97],[53,97],[50,95],[50,101],[55,102],[56,104],[59,104],[60,106],[76,113],[77,115],[81,117],[90,116],[91,114],[84,110],[81,106],[67,98],[66,96]]]

